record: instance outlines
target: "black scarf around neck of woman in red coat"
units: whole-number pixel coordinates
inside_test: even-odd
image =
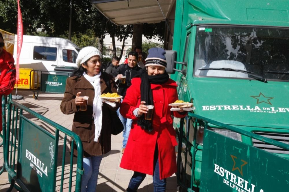
[[[140,75],[140,101],[145,101],[146,105],[154,105],[153,104],[153,94],[151,92],[151,84],[164,84],[168,81],[169,77],[167,72],[164,74],[149,76],[147,74],[146,69],[142,69],[142,73]],[[155,110],[155,109],[154,109]],[[145,120],[144,114],[138,120],[138,125],[149,132],[153,130],[152,120]]]

